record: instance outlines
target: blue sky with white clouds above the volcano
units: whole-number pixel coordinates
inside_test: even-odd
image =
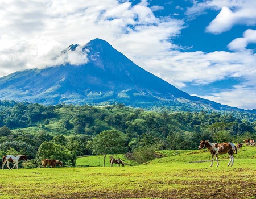
[[[100,38],[188,94],[256,109],[255,10],[253,0],[0,0],[0,77],[85,63],[55,58]]]

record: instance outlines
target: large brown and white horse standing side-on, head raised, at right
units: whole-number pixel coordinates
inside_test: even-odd
[[[237,147],[232,144],[232,143],[222,143],[222,144],[217,144],[217,143],[210,143],[208,141],[201,140],[200,145],[199,145],[199,150],[202,148],[206,147],[209,151],[210,154],[212,154],[212,163],[210,164],[210,167],[213,165],[213,160],[214,160],[214,155],[217,160],[217,167],[218,167],[218,154],[229,154],[230,161],[228,163],[228,166],[231,164],[231,167],[234,164],[234,154],[237,154]]]

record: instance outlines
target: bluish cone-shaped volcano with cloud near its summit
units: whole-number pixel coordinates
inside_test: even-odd
[[[125,103],[137,107],[168,105],[184,110],[236,109],[208,101],[175,88],[145,71],[108,42],[91,40],[71,45],[87,55],[87,63],[20,71],[0,78],[0,99],[28,101],[44,105],[58,103]]]

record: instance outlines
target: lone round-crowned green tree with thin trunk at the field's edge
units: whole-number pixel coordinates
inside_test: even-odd
[[[108,154],[119,154],[125,152],[124,141],[121,134],[116,130],[106,130],[96,135],[92,142],[89,142],[88,148],[93,154],[100,154],[104,157],[103,167],[105,167],[105,159]]]

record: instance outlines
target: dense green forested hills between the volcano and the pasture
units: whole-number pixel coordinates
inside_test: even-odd
[[[255,139],[254,117],[239,112],[162,109],[160,113],[123,104],[43,106],[0,101],[0,155],[26,154],[32,159],[28,167],[37,167],[44,158],[75,166],[77,156],[97,154],[94,138],[113,131],[121,137],[123,153],[196,149],[202,139],[237,143]]]

